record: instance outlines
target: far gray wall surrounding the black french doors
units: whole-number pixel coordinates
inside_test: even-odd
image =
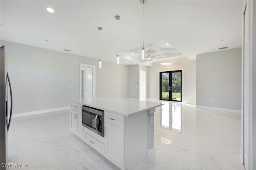
[[[160,63],[172,63],[161,65]],[[159,71],[183,68],[183,101],[196,102],[196,61],[187,57],[153,63],[148,66],[148,98],[159,98]]]

